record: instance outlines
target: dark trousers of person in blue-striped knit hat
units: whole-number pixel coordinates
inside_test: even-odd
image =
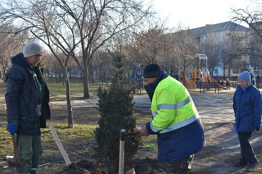
[[[240,142],[241,156],[240,161],[250,163],[257,160],[256,154],[249,142],[252,132],[238,132],[238,139]]]

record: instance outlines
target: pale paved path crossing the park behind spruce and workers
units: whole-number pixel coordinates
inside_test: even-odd
[[[200,114],[203,123],[223,123],[233,122],[234,112],[232,109],[233,105],[233,92],[235,89],[222,90],[215,94],[214,91],[205,92],[205,94],[191,94],[191,97],[196,105],[196,108]],[[150,113],[151,102],[147,94],[134,95],[133,101],[135,102],[135,108]],[[50,107],[55,108],[66,108],[65,101],[50,102]],[[93,107],[98,106],[97,99],[86,99],[86,100],[72,100],[71,105],[73,108],[76,107]],[[0,104],[5,106],[5,103]]]

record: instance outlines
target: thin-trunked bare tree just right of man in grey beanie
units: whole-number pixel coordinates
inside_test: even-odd
[[[7,5],[8,8],[4,8],[5,5]],[[0,6],[1,25],[8,26],[12,23],[17,23],[17,29],[10,31],[9,34],[18,35],[21,32],[28,32],[28,40],[41,40],[48,46],[60,66],[63,68],[63,77],[66,79],[68,126],[73,127],[67,65],[76,47],[75,41],[70,39],[75,37],[75,25],[68,21],[66,15],[59,15],[57,8],[50,1],[30,1],[30,3],[28,3],[28,1],[20,2],[13,0],[6,2],[5,5]],[[61,24],[64,24],[64,26],[67,25],[67,28],[63,28]],[[61,58],[56,54],[59,52],[62,52],[66,56],[64,61],[62,60],[64,56]]]

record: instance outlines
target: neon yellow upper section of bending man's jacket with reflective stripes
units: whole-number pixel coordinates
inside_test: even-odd
[[[186,126],[199,118],[187,89],[171,76],[157,85],[151,110],[154,119],[150,128],[160,134]]]

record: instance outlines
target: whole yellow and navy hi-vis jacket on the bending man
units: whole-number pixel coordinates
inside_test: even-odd
[[[153,120],[146,124],[158,136],[158,162],[186,158],[205,145],[204,129],[187,89],[168,76],[157,84],[151,104]]]

